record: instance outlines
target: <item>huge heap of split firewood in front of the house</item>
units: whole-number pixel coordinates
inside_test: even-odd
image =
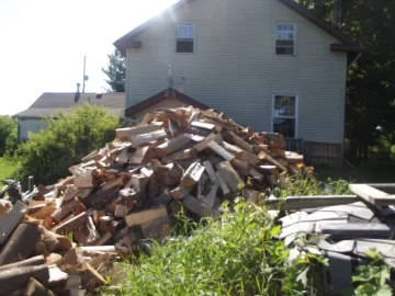
[[[283,147],[279,134],[192,106],[116,129],[27,205],[0,203],[0,295],[84,295],[104,285],[112,262],[138,254],[142,239],[169,236],[181,208],[218,216],[224,201],[259,203],[268,187],[312,173]]]

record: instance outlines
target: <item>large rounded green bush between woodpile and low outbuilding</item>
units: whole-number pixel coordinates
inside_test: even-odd
[[[20,168],[15,178],[23,186],[29,175],[34,175],[36,184],[56,183],[69,175],[68,168],[82,157],[112,141],[121,124],[121,117],[89,104],[76,107],[70,115],[60,113],[57,119],[48,119],[47,128],[18,148]]]

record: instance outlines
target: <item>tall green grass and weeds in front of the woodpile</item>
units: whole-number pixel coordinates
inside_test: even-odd
[[[239,203],[221,220],[179,220],[172,239],[154,242],[150,255],[125,264],[127,278],[115,295],[315,294],[309,266],[319,259],[291,264],[289,249],[274,238],[280,227],[266,209]]]

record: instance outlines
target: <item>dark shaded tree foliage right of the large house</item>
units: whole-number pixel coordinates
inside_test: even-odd
[[[314,4],[312,11],[319,18],[332,20],[334,0],[300,2]],[[382,134],[395,133],[395,1],[342,1],[341,10],[341,30],[362,47],[348,73],[346,133],[358,156],[365,158],[368,147],[379,144]]]

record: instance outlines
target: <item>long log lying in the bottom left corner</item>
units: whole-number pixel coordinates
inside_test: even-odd
[[[46,285],[49,282],[49,269],[47,265],[24,266],[0,272],[0,294],[7,295],[15,287],[24,287],[31,277]]]

